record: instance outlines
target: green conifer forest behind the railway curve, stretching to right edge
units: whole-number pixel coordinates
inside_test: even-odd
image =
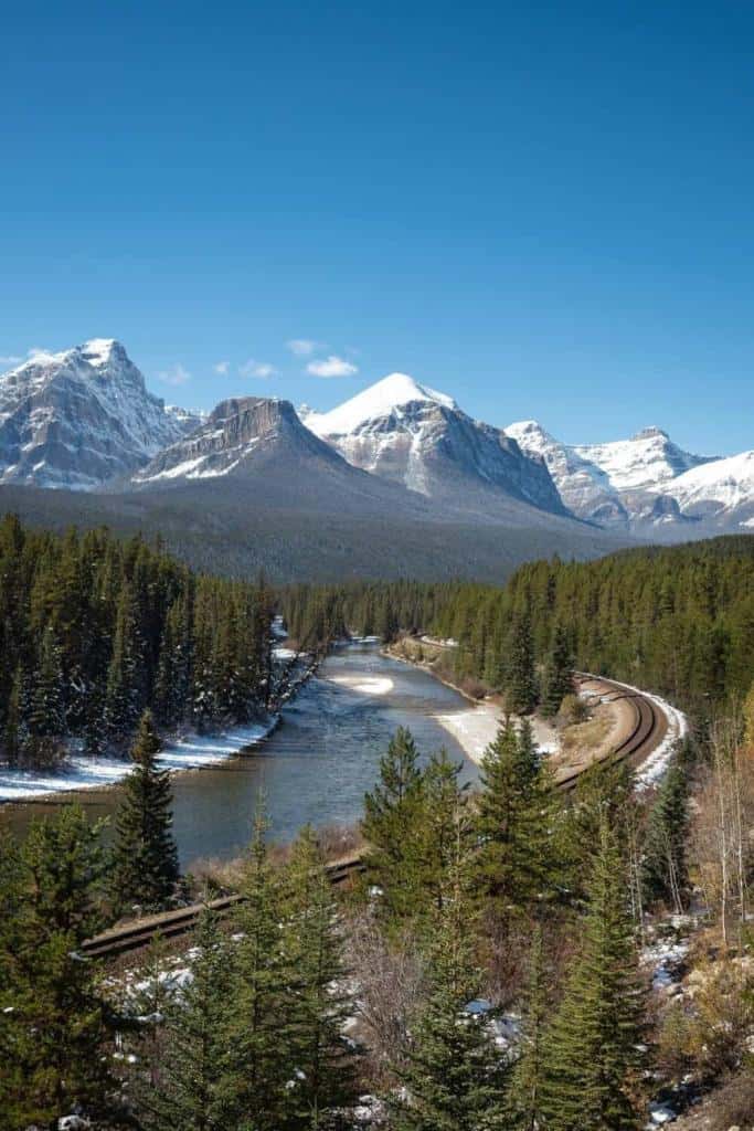
[[[634,550],[595,562],[522,566],[504,588],[466,582],[294,587],[293,634],[312,628],[426,632],[458,641],[453,668],[496,690],[529,665],[541,680],[565,649],[574,666],[702,710],[748,691],[754,537]]]

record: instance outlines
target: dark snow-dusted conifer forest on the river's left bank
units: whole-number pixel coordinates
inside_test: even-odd
[[[146,707],[167,729],[246,722],[265,706],[271,599],[197,576],[140,537],[58,537],[0,524],[0,735],[10,765],[67,740],[122,746]]]

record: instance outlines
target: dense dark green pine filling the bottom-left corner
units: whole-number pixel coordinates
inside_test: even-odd
[[[0,1111],[9,1126],[99,1117],[112,1078],[111,1015],[80,956],[102,930],[101,826],[78,806],[37,822],[0,867]]]

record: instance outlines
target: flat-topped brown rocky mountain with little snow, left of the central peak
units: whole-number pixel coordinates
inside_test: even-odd
[[[133,476],[145,485],[240,476],[274,455],[311,456],[332,463],[337,457],[301,423],[288,400],[277,397],[232,397],[222,400],[189,435],[161,451]],[[339,461],[339,460],[338,460]]]

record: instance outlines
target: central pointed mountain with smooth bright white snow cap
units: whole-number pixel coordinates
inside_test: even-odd
[[[435,500],[506,507],[511,500],[564,515],[545,460],[500,429],[405,373],[329,413],[302,409],[307,429],[355,467]]]

